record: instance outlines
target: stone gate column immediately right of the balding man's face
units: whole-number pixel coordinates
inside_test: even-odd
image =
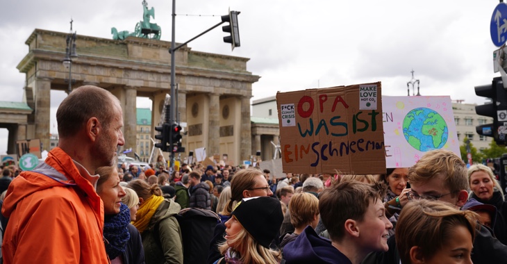
[[[135,129],[138,122],[135,100],[138,96],[138,91],[133,86],[125,86],[124,90],[125,105],[123,106],[123,124],[125,145],[123,146],[123,149],[132,148],[132,151],[126,155],[129,157],[134,157],[134,151],[137,149],[137,131]]]

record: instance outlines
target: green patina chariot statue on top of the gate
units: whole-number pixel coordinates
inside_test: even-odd
[[[124,40],[127,37],[133,36],[138,38],[151,38],[160,40],[162,30],[156,23],[150,23],[149,18],[155,18],[155,8],[148,9],[148,3],[146,0],[142,1],[143,14],[142,21],[135,24],[134,32],[129,31],[117,31],[116,28],[111,28],[111,34],[113,34],[113,40]]]

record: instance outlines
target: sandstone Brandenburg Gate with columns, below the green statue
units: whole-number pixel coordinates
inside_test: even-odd
[[[24,101],[33,112],[28,114],[26,126],[13,129],[13,138],[39,138],[42,149],[49,149],[50,91],[66,91],[69,79],[72,88],[96,85],[119,99],[124,112],[125,138],[120,151],[137,147],[136,98],[151,99],[153,138],[153,126],[158,126],[165,95],[171,94],[168,52],[171,42],[77,35],[79,58],[72,62],[69,78],[69,70],[62,65],[66,37],[67,33],[35,29],[26,40],[28,53],[17,69],[26,74]],[[181,158],[192,149],[204,147],[208,156],[227,154],[235,162],[247,160],[253,154],[251,85],[260,78],[247,71],[249,58],[192,51],[187,46],[175,51],[174,56],[178,87],[176,116],[188,131],[183,137],[187,153]]]

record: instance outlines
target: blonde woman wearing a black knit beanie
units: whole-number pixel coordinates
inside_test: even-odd
[[[225,223],[225,242],[219,245],[224,255],[216,263],[277,264],[279,249],[269,245],[278,235],[283,221],[280,201],[272,197],[242,199]]]

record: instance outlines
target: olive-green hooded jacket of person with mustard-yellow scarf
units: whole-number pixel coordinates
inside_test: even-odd
[[[171,199],[165,199],[151,217],[148,228],[141,234],[146,263],[183,264],[181,229],[174,217],[179,211],[179,204]]]

